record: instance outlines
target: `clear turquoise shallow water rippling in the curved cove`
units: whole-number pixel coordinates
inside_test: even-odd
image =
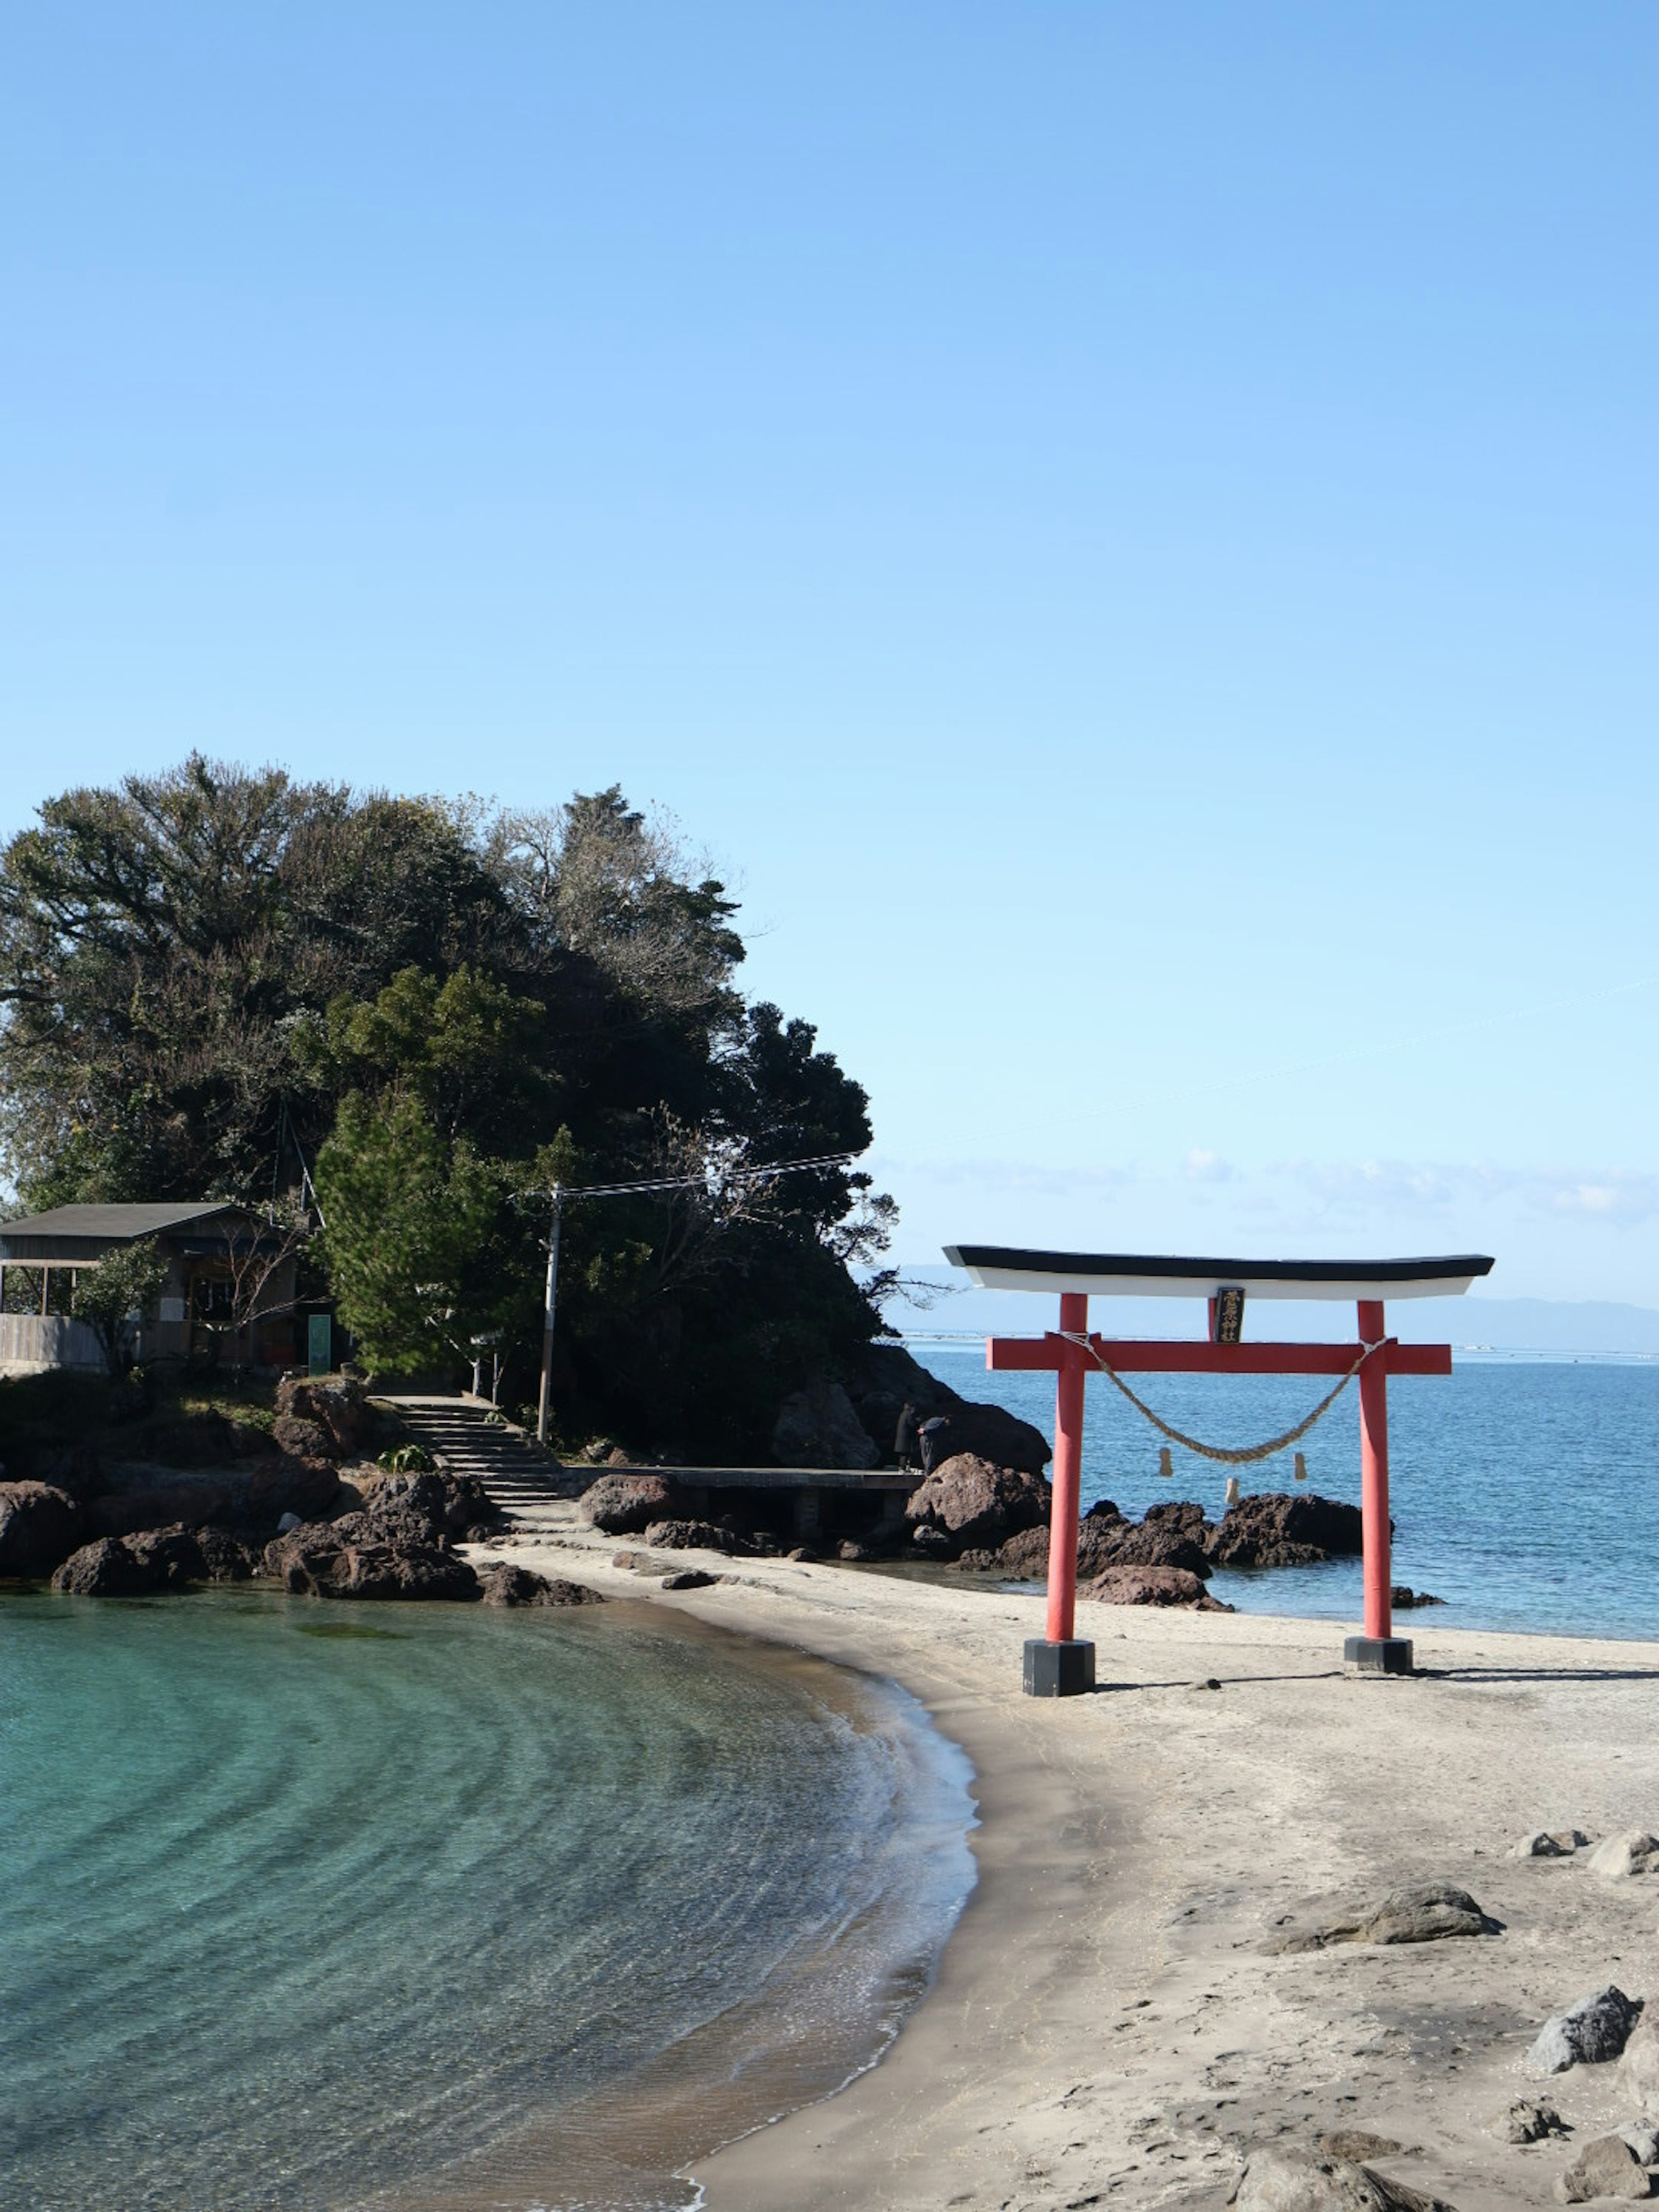
[[[653,2068],[712,2141],[865,2064],[967,1816],[900,1692],[639,1608],[4,1597],[0,2203],[681,2205]]]

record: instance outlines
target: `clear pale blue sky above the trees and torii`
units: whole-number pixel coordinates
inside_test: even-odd
[[[557,801],[945,1239],[1659,1305],[1659,11],[15,13],[0,830]]]

